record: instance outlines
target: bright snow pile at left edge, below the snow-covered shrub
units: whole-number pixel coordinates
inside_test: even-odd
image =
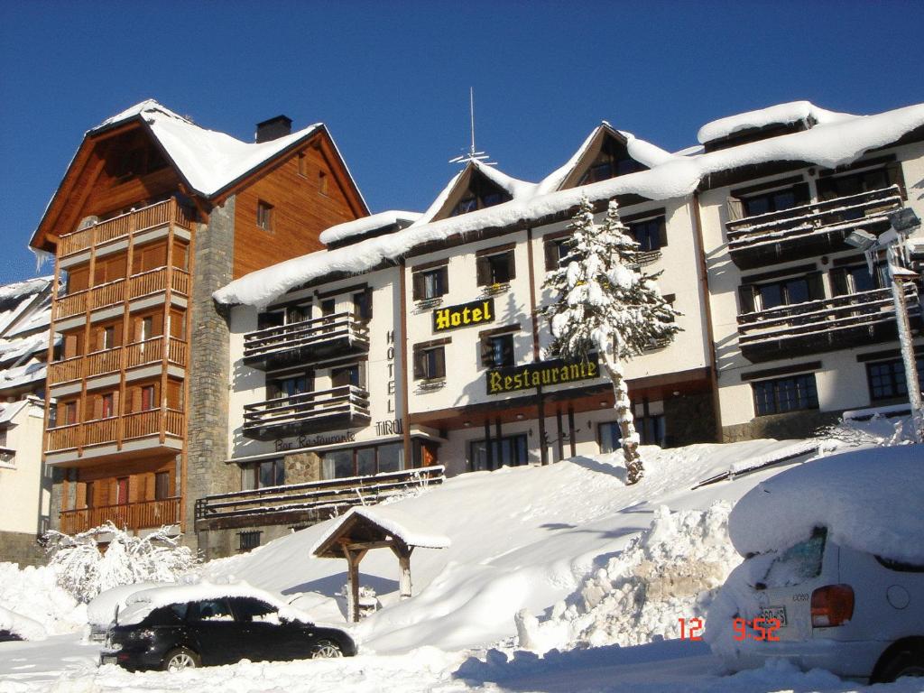
[[[55,570],[0,563],[0,629],[32,639],[70,633],[85,623],[86,607],[58,587]]]

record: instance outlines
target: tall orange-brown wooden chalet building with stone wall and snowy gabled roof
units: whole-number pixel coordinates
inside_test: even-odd
[[[55,191],[30,246],[55,257],[43,451],[56,528],[186,529],[196,498],[237,488],[212,293],[368,214],[322,124],[291,132],[278,116],[255,139],[147,101],[88,131]]]

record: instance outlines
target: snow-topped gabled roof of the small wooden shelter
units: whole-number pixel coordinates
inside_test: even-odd
[[[346,558],[346,548],[380,549],[392,546],[413,549],[444,549],[449,539],[419,529],[416,517],[388,505],[354,507],[318,540],[311,555],[318,558]]]

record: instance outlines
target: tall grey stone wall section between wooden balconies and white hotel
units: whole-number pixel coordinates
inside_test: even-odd
[[[237,491],[237,467],[225,465],[228,425],[229,331],[226,310],[212,294],[232,279],[235,199],[215,207],[195,237],[192,330],[189,335],[186,541],[193,540],[196,500]]]

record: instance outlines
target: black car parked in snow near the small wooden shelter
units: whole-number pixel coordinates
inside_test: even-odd
[[[102,664],[176,671],[197,666],[351,657],[356,643],[337,628],[286,618],[253,597],[177,602],[138,623],[110,627]]]

